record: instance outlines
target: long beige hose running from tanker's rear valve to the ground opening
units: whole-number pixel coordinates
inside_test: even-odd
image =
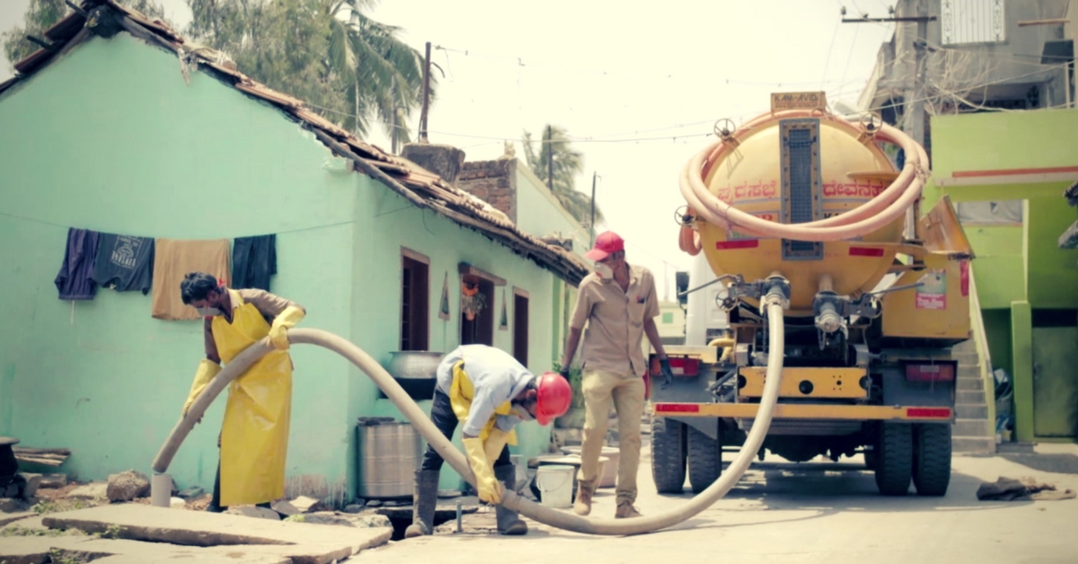
[[[768,434],[768,428],[771,426],[771,416],[775,408],[775,401],[778,399],[778,386],[783,371],[783,347],[785,344],[783,334],[783,298],[777,293],[769,294],[764,299],[764,304],[771,330],[769,331],[770,356],[768,358],[766,382],[763,387],[763,397],[760,400],[760,410],[737,458],[730,464],[730,467],[709,487],[675,510],[624,520],[579,517],[573,513],[541,506],[510,491],[507,491],[502,496],[501,505],[545,525],[575,533],[634,535],[675,525],[715,504],[715,501],[725,495],[741,480],[742,474],[748,469],[752,457],[759,452],[760,445],[763,443],[763,438]],[[353,364],[356,364],[357,368],[365,372],[382,388],[386,397],[412,422],[412,425],[419,435],[423,435],[427,439],[427,442],[438,451],[438,454],[442,455],[445,462],[460,476],[465,477],[469,483],[473,486],[475,485],[475,478],[472,476],[471,468],[465,455],[434,427],[430,417],[419,409],[419,405],[407,396],[400,384],[381,364],[371,358],[370,355],[347,340],[318,329],[290,329],[288,340],[292,344],[312,344],[329,348],[348,359]],[[268,340],[264,339],[254,343],[237,355],[232,362],[229,362],[209,385],[206,386],[206,389],[198,396],[198,399],[191,405],[186,417],[181,418],[176,424],[172,432],[157,452],[157,456],[153,460],[153,470],[155,472],[164,473],[168,470],[168,465],[171,464],[172,457],[176,455],[176,451],[183,442],[183,439],[186,438],[195,423],[202,418],[203,413],[209,408],[209,404],[213,402],[217,396],[224,390],[225,386],[236,376],[243,374],[255,360],[262,358],[263,355],[271,350],[272,347],[268,344]],[[170,481],[165,480],[165,482]],[[157,480],[153,481],[154,486],[157,483]],[[152,494],[151,497],[158,498],[158,496]],[[167,495],[161,497],[167,503]]]

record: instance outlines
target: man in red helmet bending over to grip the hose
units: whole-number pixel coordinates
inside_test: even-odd
[[[522,421],[549,425],[565,414],[572,389],[561,375],[535,376],[505,350],[487,345],[464,345],[438,366],[438,383],[430,419],[448,439],[461,425],[468,465],[475,474],[479,498],[501,501],[503,489],[515,490],[516,469],[509,458],[509,444],[516,443],[514,427]],[[434,527],[438,479],[442,457],[427,445],[415,472],[412,525],[405,537],[430,535]],[[515,511],[497,506],[498,533],[525,535],[528,526]]]

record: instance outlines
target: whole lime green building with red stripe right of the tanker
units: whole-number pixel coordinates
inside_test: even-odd
[[[972,262],[991,362],[1012,377],[1017,440],[1078,434],[1078,110],[938,115],[923,209],[955,203]]]

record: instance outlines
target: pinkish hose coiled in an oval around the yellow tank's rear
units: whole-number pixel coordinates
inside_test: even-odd
[[[902,148],[906,163],[898,177],[877,196],[860,206],[838,216],[811,221],[806,223],[776,223],[757,218],[719,200],[704,183],[711,166],[719,157],[736,148],[736,137],[744,137],[756,127],[772,119],[787,118],[820,118],[818,112],[808,110],[791,110],[764,114],[751,120],[740,129],[738,136],[723,138],[703,151],[696,153],[681,169],[681,195],[694,214],[710,223],[721,226],[734,226],[748,235],[766,238],[788,238],[796,240],[842,240],[859,237],[876,231],[898,219],[921,196],[928,175],[928,154],[912,137],[900,129],[883,124],[875,133],[875,138]],[[854,124],[834,116],[823,116],[839,128],[852,135],[862,135]],[[685,234],[682,234],[685,236]],[[682,250],[695,250],[693,245],[680,242]],[[687,249],[686,247],[689,247]],[[696,251],[699,252],[699,251]]]

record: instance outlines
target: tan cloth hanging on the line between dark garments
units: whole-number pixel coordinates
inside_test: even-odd
[[[229,284],[229,239],[157,239],[153,252],[153,315],[156,319],[198,319],[180,299],[180,283],[189,272],[205,272]]]

